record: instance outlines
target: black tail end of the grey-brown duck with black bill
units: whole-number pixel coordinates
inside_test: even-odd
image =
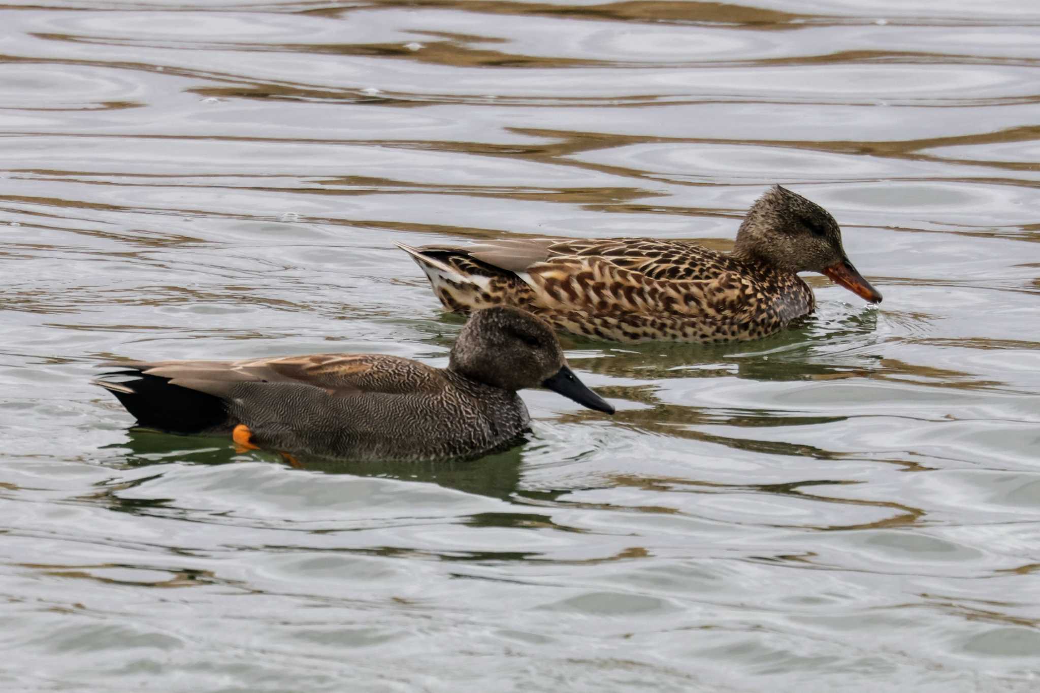
[[[134,379],[105,379],[126,375]],[[227,407],[219,398],[171,384],[168,378],[127,370],[106,373],[95,383],[115,395],[141,426],[172,433],[202,433],[229,425]]]

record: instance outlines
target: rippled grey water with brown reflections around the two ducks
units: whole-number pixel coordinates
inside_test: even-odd
[[[3,690],[1034,691],[1040,6],[7,4]],[[809,277],[724,347],[568,339],[613,419],[293,470],[127,430],[113,356],[442,365],[393,241],[727,247],[764,186]]]

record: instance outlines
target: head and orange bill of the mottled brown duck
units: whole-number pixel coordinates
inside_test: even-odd
[[[841,247],[841,230],[820,205],[775,185],[748,210],[735,251],[788,272],[820,272],[872,303],[881,293]]]

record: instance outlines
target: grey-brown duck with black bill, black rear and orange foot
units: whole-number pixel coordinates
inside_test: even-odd
[[[231,434],[239,451],[425,461],[504,449],[530,417],[517,391],[542,385],[614,414],[567,365],[552,328],[509,305],[473,311],[447,368],[388,354],[252,361],[116,361],[94,383],[139,426]],[[503,447],[504,446],[504,447]]]

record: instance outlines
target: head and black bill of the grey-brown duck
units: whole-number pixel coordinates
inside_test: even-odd
[[[448,368],[511,392],[542,385],[590,409],[614,414],[567,366],[552,328],[518,308],[474,311],[451,348]]]

